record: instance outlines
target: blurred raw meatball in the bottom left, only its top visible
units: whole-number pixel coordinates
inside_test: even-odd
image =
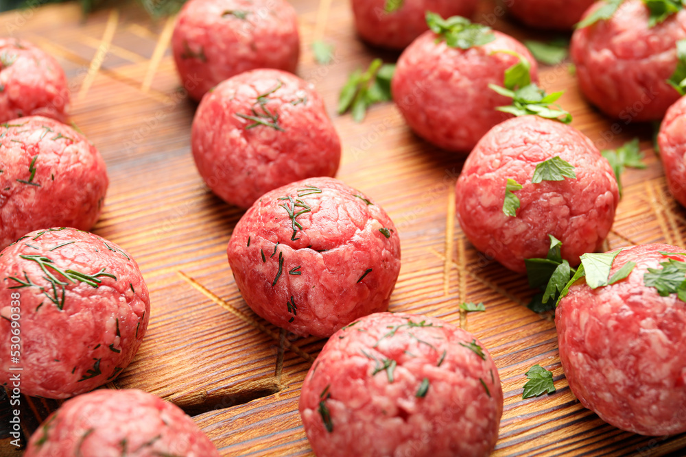
[[[178,406],[136,389],[65,402],[31,436],[24,457],[219,457]]]

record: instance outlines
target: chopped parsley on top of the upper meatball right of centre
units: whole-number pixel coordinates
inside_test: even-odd
[[[439,14],[427,11],[426,20],[429,29],[439,36],[439,40],[445,40],[449,47],[469,49],[486,45],[495,40],[495,35],[490,27],[473,24],[469,19],[462,16],[444,19]]]

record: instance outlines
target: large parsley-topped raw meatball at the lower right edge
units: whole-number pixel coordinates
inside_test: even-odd
[[[659,251],[683,249],[625,248],[610,273],[635,262],[625,280],[595,290],[577,282],[555,312],[560,360],[581,404],[617,428],[652,436],[686,432],[686,304],[676,293],[661,297],[643,276],[686,256]]]

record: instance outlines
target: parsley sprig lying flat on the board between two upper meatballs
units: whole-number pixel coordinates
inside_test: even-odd
[[[381,59],[375,59],[364,73],[351,73],[338,98],[338,114],[351,110],[353,120],[362,122],[370,105],[392,99],[390,80],[394,71],[394,64],[384,65]]]

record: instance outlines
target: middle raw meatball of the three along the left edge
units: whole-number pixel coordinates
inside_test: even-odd
[[[0,249],[56,225],[90,230],[109,184],[86,137],[40,116],[0,124]]]

